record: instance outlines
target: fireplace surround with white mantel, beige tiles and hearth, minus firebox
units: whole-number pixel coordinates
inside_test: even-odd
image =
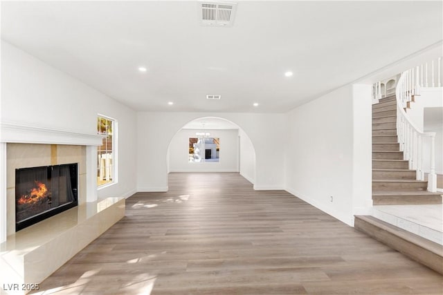
[[[26,294],[15,284],[42,282],[123,218],[125,199],[97,199],[99,135],[18,124],[0,127],[0,293]],[[15,169],[70,163],[78,163],[78,207],[16,233]]]

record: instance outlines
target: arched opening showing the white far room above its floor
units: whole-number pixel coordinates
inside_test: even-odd
[[[236,172],[255,183],[255,149],[244,130],[222,117],[199,117],[170,140],[168,173]]]

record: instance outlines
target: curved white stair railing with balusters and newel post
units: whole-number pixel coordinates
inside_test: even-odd
[[[395,95],[397,97],[397,135],[399,138],[400,151],[404,152],[404,160],[409,161],[409,169],[417,171],[417,180],[424,180],[424,153],[430,155],[430,173],[428,174],[428,191],[437,191],[437,175],[435,174],[435,133],[424,133],[409,120],[406,114],[408,102],[414,95],[419,95],[419,88],[423,83],[428,84],[431,80],[435,85],[435,77],[438,77],[437,85],[442,85],[440,78],[441,57],[438,59],[438,75],[428,75],[428,63],[411,68],[401,74]],[[434,64],[432,63],[432,68]],[[423,67],[424,66],[424,67]],[[423,68],[425,69],[423,71]],[[421,69],[421,70],[420,70]],[[431,77],[431,79],[428,79]],[[440,87],[440,86],[438,86]],[[428,151],[424,149],[426,137],[431,138],[431,146]]]

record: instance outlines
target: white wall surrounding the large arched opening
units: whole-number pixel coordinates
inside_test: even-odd
[[[255,189],[283,189],[283,114],[137,113],[138,191],[168,189],[167,151],[174,135],[201,117],[221,117],[243,129],[255,148]]]

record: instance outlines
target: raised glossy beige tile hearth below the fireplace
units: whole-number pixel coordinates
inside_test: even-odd
[[[80,204],[8,236],[0,244],[0,285],[41,283],[123,216],[125,198],[106,198]]]

